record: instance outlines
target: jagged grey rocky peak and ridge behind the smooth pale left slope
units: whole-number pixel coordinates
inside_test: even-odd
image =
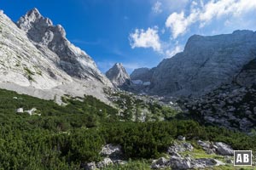
[[[26,32],[27,37],[41,52],[50,53],[50,50],[57,54],[55,57],[52,55],[47,55],[47,57],[54,60],[56,65],[68,75],[109,83],[108,79],[96,68],[90,56],[67,40],[64,28],[61,25],[54,26],[52,21],[44,18],[37,8],[33,8],[20,17],[17,26]]]

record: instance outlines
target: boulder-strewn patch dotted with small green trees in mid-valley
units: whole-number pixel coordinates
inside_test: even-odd
[[[118,92],[111,94],[111,100],[120,108],[120,118],[124,121],[155,122],[172,120],[177,116],[177,110],[149,96]]]

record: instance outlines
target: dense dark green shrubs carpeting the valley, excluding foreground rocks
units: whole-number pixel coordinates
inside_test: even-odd
[[[100,161],[98,153],[109,143],[120,144],[125,159],[156,158],[180,134],[187,139],[224,141],[237,150],[256,150],[254,137],[224,128],[174,119],[119,122],[117,110],[93,97],[64,97],[63,101],[66,106],[0,90],[0,169],[79,169],[82,163]],[[16,113],[20,107],[25,111],[35,107],[41,116]],[[123,169],[146,165],[131,161]]]

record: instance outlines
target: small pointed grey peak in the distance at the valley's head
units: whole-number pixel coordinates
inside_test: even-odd
[[[106,76],[115,87],[125,87],[130,85],[130,76],[125,71],[125,67],[121,63],[116,63],[106,72]]]

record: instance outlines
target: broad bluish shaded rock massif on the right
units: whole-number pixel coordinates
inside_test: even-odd
[[[256,56],[256,33],[234,31],[211,37],[192,36],[183,53],[164,59],[152,77],[151,94],[206,94],[234,76]]]

